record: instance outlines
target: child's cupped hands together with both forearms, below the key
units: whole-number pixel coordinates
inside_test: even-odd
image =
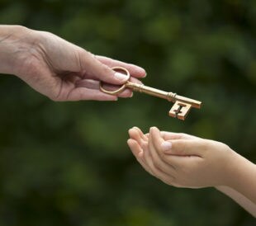
[[[228,145],[189,134],[133,127],[127,143],[140,165],[170,186],[214,186],[256,217],[256,165]]]

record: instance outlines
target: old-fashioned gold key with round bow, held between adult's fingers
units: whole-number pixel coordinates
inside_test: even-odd
[[[188,112],[192,107],[200,108],[201,107],[201,101],[196,101],[187,97],[182,97],[177,95],[173,92],[164,92],[162,90],[153,88],[153,87],[147,87],[143,84],[138,84],[135,82],[130,82],[130,73],[126,68],[122,67],[114,67],[112,68],[115,71],[125,73],[128,77],[127,82],[123,84],[120,88],[118,88],[115,91],[108,91],[102,87],[102,82],[100,83],[100,90],[102,92],[105,92],[107,94],[116,95],[118,93],[123,92],[126,88],[130,88],[135,92],[144,92],[146,94],[149,94],[150,96],[154,97],[160,97],[164,98],[168,101],[172,101],[174,103],[173,107],[169,111],[170,116],[174,118],[178,118],[179,120],[185,120],[187,117]]]

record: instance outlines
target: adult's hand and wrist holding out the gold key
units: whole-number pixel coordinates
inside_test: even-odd
[[[115,101],[99,90],[99,82],[118,85],[127,78],[111,69],[128,69],[133,82],[145,70],[133,64],[96,56],[59,36],[24,26],[0,26],[0,73],[15,74],[54,101]],[[119,97],[131,97],[126,89]]]

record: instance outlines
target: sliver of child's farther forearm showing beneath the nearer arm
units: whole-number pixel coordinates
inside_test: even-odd
[[[216,189],[225,195],[228,195],[232,200],[235,200],[235,202],[241,205],[244,210],[248,211],[250,214],[256,217],[256,204],[254,204],[247,197],[228,186],[217,186]]]

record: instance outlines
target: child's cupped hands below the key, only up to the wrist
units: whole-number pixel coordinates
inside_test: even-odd
[[[129,130],[128,145],[146,171],[168,185],[178,187],[220,186],[229,183],[235,167],[235,152],[227,145],[188,134],[149,134],[139,128]]]

